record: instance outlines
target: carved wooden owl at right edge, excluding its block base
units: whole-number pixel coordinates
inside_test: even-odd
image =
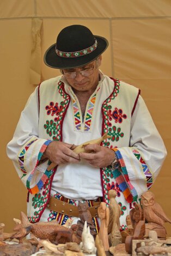
[[[147,222],[152,222],[161,225],[162,227],[164,222],[169,222],[169,218],[164,214],[164,211],[160,204],[155,202],[154,194],[150,191],[147,191],[142,194],[141,204],[144,209],[145,220]]]

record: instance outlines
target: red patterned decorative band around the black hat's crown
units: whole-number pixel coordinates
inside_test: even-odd
[[[95,40],[95,43],[94,45],[84,49],[84,50],[81,50],[81,51],[77,51],[77,52],[62,52],[62,51],[59,51],[57,48],[56,48],[56,53],[58,56],[60,57],[64,57],[64,58],[75,58],[75,57],[80,57],[80,56],[83,56],[83,55],[87,55],[91,52],[93,52],[94,50],[96,50],[97,48],[97,40]]]

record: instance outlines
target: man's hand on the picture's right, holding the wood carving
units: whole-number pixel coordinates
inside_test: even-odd
[[[107,147],[89,144],[85,147],[85,150],[92,153],[80,153],[80,157],[96,168],[107,167],[115,159],[114,151]]]

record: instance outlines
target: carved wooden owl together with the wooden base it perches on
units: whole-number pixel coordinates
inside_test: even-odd
[[[145,215],[145,237],[148,236],[149,230],[155,230],[157,236],[166,239],[166,229],[164,222],[171,223],[170,219],[164,213],[160,204],[155,202],[154,194],[150,191],[142,194],[141,204]]]

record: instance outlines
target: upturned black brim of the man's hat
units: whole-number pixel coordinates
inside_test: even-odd
[[[94,35],[97,40],[97,48],[93,52],[80,56],[80,57],[72,57],[65,58],[60,57],[56,54],[55,48],[56,44],[51,45],[44,55],[44,62],[47,66],[50,66],[53,69],[71,69],[77,68],[78,66],[86,65],[100,56],[106,48],[108,47],[108,41],[106,38],[103,38],[99,35]]]

